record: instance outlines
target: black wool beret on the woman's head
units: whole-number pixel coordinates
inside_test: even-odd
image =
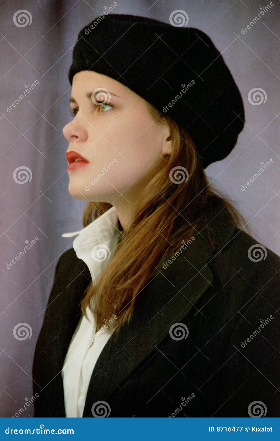
[[[187,131],[203,168],[224,159],[244,127],[239,89],[202,30],[147,17],[103,13],[78,34],[68,72],[107,75]],[[102,86],[102,85],[100,85]]]

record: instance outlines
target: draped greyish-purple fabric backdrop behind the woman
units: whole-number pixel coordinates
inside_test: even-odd
[[[33,416],[33,352],[55,264],[73,242],[61,235],[82,228],[85,206],[68,193],[68,143],[62,133],[70,121],[67,72],[79,30],[113,4],[0,2],[1,417]],[[165,22],[173,11],[183,10],[187,26],[206,32],[222,53],[241,91],[246,124],[232,153],[206,173],[233,198],[254,237],[280,254],[279,2],[115,4],[114,13]],[[260,164],[268,162],[254,178]],[[251,186],[244,187],[250,179]]]

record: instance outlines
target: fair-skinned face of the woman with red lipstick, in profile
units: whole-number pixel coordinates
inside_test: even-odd
[[[169,127],[151,117],[138,94],[94,71],[74,75],[70,106],[75,116],[63,127],[66,156],[76,152],[88,161],[70,164],[70,194],[112,205],[135,202],[171,153]]]

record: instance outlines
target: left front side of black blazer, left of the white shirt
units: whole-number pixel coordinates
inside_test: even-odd
[[[49,399],[47,400],[47,416],[65,417],[61,370],[81,317],[79,302],[91,281],[91,276],[87,265],[77,258],[73,249],[65,254],[60,265],[38,337],[33,369],[36,371],[36,378],[39,379],[38,383],[44,388],[42,391],[38,389],[39,395],[44,397],[44,392],[48,393],[51,400],[50,403]],[[40,370],[44,371],[44,384],[43,380],[40,380]],[[35,385],[36,389],[39,384]],[[46,412],[46,409],[44,411]]]

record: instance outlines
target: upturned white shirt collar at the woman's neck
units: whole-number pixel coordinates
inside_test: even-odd
[[[113,257],[120,234],[117,209],[112,206],[86,227],[62,237],[77,235],[73,248],[77,258],[88,265],[93,281]]]

